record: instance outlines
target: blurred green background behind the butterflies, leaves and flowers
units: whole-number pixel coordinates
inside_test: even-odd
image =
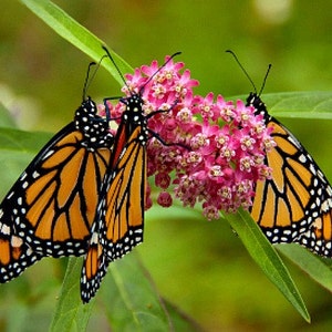
[[[73,111],[81,103],[91,59],[21,3],[1,2],[1,102],[14,114],[20,127],[55,133],[72,120]],[[162,62],[166,54],[181,51],[179,60],[200,81],[196,92],[203,95],[212,91],[230,97],[252,90],[234,59],[225,53],[227,49],[237,53],[258,89],[268,64],[272,63],[264,93],[332,90],[332,2],[329,1],[54,2],[132,66],[154,59]],[[103,96],[118,92],[117,83],[100,70],[89,94],[101,102]],[[332,180],[332,124],[289,118],[282,122]],[[1,193],[7,189],[2,188]],[[311,325],[266,279],[228,225],[207,222],[195,211],[169,221],[169,214],[176,211],[176,208],[162,212],[153,209],[146,214],[145,242],[137,251],[162,295],[195,318],[206,331],[326,331],[332,328],[332,295],[299,270],[290,266],[312,315]],[[11,319],[8,303],[15,305],[15,314],[28,314],[25,299],[15,299],[19,290],[28,284],[35,287],[31,297],[37,303],[39,292],[53,286],[54,292],[42,304],[35,304],[32,315],[29,312],[31,326],[35,329],[39,323],[48,326],[51,313],[45,317],[44,312],[45,308],[51,312],[54,304],[63,262],[42,261],[24,277],[0,287],[0,293],[8,299],[0,304],[0,326],[6,326],[6,320]],[[107,331],[101,315],[95,313],[91,328]],[[29,324],[24,329],[29,331]]]

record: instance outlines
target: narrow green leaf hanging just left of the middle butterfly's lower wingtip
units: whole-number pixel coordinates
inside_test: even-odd
[[[83,304],[80,297],[82,259],[71,258],[66,268],[59,302],[50,326],[51,332],[85,331],[94,300]]]

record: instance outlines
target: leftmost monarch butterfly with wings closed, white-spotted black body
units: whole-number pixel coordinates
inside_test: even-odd
[[[108,122],[85,96],[91,65],[74,121],[41,149],[0,205],[0,282],[42,257],[86,252],[113,143]]]

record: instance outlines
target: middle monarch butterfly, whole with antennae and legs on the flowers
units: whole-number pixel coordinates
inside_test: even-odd
[[[104,50],[127,86],[112,55],[106,48]],[[120,98],[120,102],[125,105],[125,111],[114,138],[110,162],[111,172],[106,173],[102,184],[101,200],[91,229],[90,246],[84,257],[81,274],[81,298],[84,303],[87,303],[100,288],[108,263],[126,255],[143,241],[147,180],[146,143],[151,135],[157,137],[148,129],[147,120],[167,111],[158,110],[145,115],[142,94],[154,75],[177,54],[179,53],[173,54],[158,68],[138,93],[131,91],[127,86],[129,96]],[[106,104],[105,106],[107,108]]]

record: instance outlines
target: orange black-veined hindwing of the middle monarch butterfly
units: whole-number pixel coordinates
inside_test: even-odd
[[[142,127],[131,135],[116,164],[101,220],[105,225],[105,242],[108,260],[129,252],[143,241],[146,151],[141,143]]]

